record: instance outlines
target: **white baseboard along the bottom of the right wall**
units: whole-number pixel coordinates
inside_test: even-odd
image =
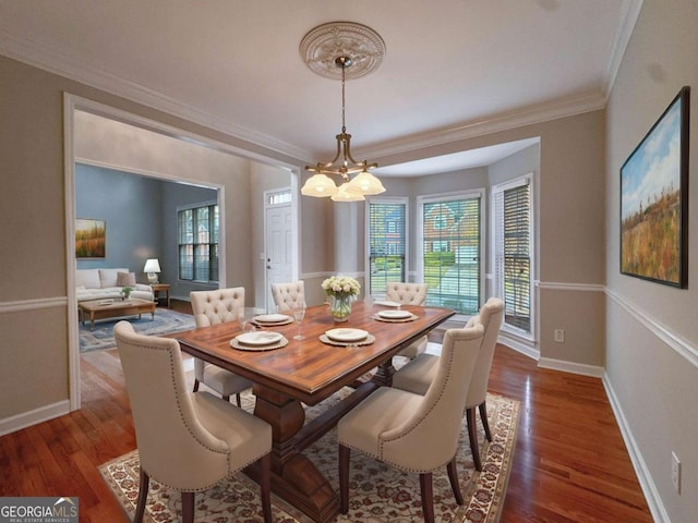
[[[606,391],[606,397],[609,398],[609,403],[611,404],[611,409],[613,410],[615,419],[618,424],[618,427],[621,428],[623,441],[625,441],[625,447],[630,457],[633,469],[635,469],[635,474],[640,484],[640,488],[642,489],[642,494],[645,495],[645,499],[647,500],[647,504],[650,509],[650,513],[652,514],[652,519],[657,523],[671,523],[669,514],[666,513],[666,509],[664,508],[664,503],[662,502],[662,498],[660,497],[657,490],[657,486],[652,481],[652,475],[650,474],[650,471],[647,467],[645,460],[642,459],[640,448],[633,437],[630,425],[623,414],[623,409],[621,409],[618,398],[616,397],[615,391],[613,390],[613,386],[609,381],[609,376],[605,373],[603,375],[602,382],[603,388]]]

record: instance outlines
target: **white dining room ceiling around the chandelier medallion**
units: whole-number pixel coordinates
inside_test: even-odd
[[[334,157],[341,85],[299,44],[334,21],[384,39],[381,66],[347,82],[354,158],[604,107],[641,0],[0,0],[0,53],[263,145]],[[522,144],[385,174],[446,171]],[[484,156],[482,156],[484,155]],[[482,162],[485,163],[482,163]],[[465,163],[464,163],[465,162]],[[378,171],[381,172],[381,171]]]

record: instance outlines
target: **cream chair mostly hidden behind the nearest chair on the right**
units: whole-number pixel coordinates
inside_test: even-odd
[[[490,369],[492,368],[494,348],[497,342],[497,335],[502,326],[503,317],[504,302],[498,297],[491,297],[488,300],[488,303],[482,306],[480,313],[470,318],[466,325],[466,327],[470,327],[476,323],[480,323],[484,327],[482,346],[478,353],[478,362],[476,363],[476,370],[472,375],[470,389],[468,390],[468,401],[466,402],[468,437],[472,451],[472,461],[478,471],[482,471],[482,462],[480,460],[480,447],[478,445],[476,408],[480,411],[480,421],[484,427],[485,437],[488,441],[492,441],[485,400],[488,398],[488,381],[490,379]],[[412,360],[395,373],[393,376],[393,387],[409,390],[418,394],[426,393],[426,390],[436,376],[438,357],[440,356],[434,354],[422,354],[418,358]]]

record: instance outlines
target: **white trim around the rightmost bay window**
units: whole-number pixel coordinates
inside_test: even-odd
[[[496,260],[496,236],[497,236],[497,216],[495,209],[495,194],[504,193],[513,188],[517,188],[524,185],[530,187],[529,190],[529,256],[530,256],[530,281],[529,281],[529,296],[530,296],[530,332],[525,331],[516,326],[509,325],[504,319],[502,320],[501,330],[507,332],[510,336],[521,338],[527,341],[535,342],[537,325],[538,325],[538,306],[535,296],[535,275],[538,270],[535,244],[537,244],[537,228],[535,228],[535,175],[533,172],[526,173],[520,177],[516,177],[506,182],[497,183],[491,187],[490,198],[490,216],[491,216],[491,234],[490,234],[490,260],[492,267],[492,291],[493,295],[498,295],[497,281],[496,281],[496,267],[494,266]],[[504,300],[503,296],[498,296]]]

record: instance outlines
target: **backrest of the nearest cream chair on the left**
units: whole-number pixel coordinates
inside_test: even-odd
[[[216,484],[230,450],[196,418],[177,340],[139,335],[128,321],[113,331],[143,470],[178,490]]]

